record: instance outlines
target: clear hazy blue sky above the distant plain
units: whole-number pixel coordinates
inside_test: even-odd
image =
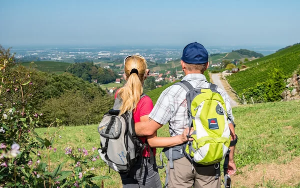
[[[300,1],[0,2],[0,44],[287,46],[300,42]]]

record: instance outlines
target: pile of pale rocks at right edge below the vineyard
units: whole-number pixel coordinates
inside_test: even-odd
[[[286,82],[286,90],[281,93],[281,101],[300,100],[300,75],[295,73]]]

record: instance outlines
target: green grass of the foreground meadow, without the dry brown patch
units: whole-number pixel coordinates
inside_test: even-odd
[[[235,131],[238,135],[234,156],[237,168],[255,164],[284,164],[300,156],[300,116],[295,109],[300,109],[299,101],[262,103],[232,109],[236,123]],[[290,127],[286,128],[287,126]],[[61,138],[53,144],[57,151],[51,152],[51,163],[55,164],[58,161],[68,163],[69,159],[64,155],[64,148],[67,146],[87,149],[91,149],[92,146],[99,147],[96,128],[97,125],[87,125],[64,127],[60,130],[57,135],[61,135]],[[58,128],[49,128],[50,133],[57,130]],[[40,135],[46,131],[46,128],[36,129]],[[167,125],[158,129],[158,136],[169,136]],[[157,148],[158,164],[160,164],[158,160],[160,152],[161,148]],[[118,173],[113,170],[108,173],[108,167],[101,159],[96,160],[94,166],[96,174],[111,176],[111,179],[104,180],[104,187],[121,186]],[[164,182],[164,169],[159,170],[159,174],[161,181]],[[278,184],[276,186],[284,187]]]

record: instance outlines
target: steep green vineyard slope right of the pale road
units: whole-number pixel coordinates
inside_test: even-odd
[[[243,89],[248,89],[256,83],[264,82],[268,73],[274,68],[290,77],[300,65],[300,44],[276,52],[274,54],[245,63],[249,67],[245,71],[227,77],[230,86],[240,95]]]

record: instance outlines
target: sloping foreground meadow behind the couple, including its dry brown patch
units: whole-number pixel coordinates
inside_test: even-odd
[[[234,156],[237,173],[232,177],[232,187],[300,187],[300,171],[297,166],[294,166],[294,169],[275,170],[276,173],[270,173],[270,168],[285,168],[300,157],[298,109],[299,101],[261,103],[232,109],[238,135]],[[99,147],[97,125],[37,128],[35,131],[41,136],[53,133],[57,135],[52,145],[57,150],[50,152],[50,166],[53,167],[64,161],[66,163],[63,168],[68,169],[71,161],[64,154],[66,147],[84,147],[89,150]],[[168,126],[164,125],[157,133],[158,136],[169,136]],[[160,152],[161,148],[157,148],[156,162],[159,165]],[[93,163],[96,174],[111,177],[103,180],[104,187],[121,187],[119,175],[115,171],[109,172],[108,166],[101,159]],[[264,165],[264,168],[257,169],[256,166],[259,165]],[[164,170],[159,169],[162,183],[165,177]],[[254,180],[249,181],[250,177]],[[101,184],[100,181],[96,183]]]

